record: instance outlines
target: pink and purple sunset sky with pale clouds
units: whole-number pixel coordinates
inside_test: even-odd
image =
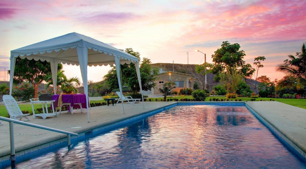
[[[9,69],[10,51],[77,32],[118,49],[133,48],[152,63],[207,62],[222,41],[239,43],[244,60],[265,56],[260,75],[284,74],[275,66],[301,51],[306,42],[305,0],[112,0],[0,2],[0,80]],[[101,81],[109,66],[88,67],[88,80]],[[78,66],[64,65],[68,77]],[[254,77],[253,77],[254,78]]]

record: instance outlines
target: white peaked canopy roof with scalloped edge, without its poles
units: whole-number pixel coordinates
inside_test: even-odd
[[[113,65],[114,57],[120,58],[121,64],[138,63],[135,56],[76,32],[15,49],[11,51],[11,58],[19,56],[47,62],[56,59],[64,64],[79,65],[77,47],[88,49],[88,66]]]

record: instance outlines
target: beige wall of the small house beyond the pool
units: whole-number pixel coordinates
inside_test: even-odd
[[[188,81],[193,81],[191,79],[189,79],[189,76],[186,75],[181,75],[181,74],[177,74],[177,73],[171,73],[171,75],[169,75],[168,73],[164,73],[164,74],[159,74],[157,75],[158,80],[155,81],[156,83],[156,88],[152,90],[152,94],[154,95],[159,95],[161,94],[159,92],[159,88],[162,88],[164,83],[171,81],[184,81],[184,88],[189,88],[189,84]],[[189,80],[188,80],[189,79]],[[159,81],[163,81],[164,83],[159,83]],[[175,88],[174,91],[180,91],[182,88]]]

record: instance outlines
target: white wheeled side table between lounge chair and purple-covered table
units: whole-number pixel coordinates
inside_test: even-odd
[[[58,117],[58,112],[54,109],[54,105],[53,105],[53,102],[55,102],[55,100],[39,101],[39,99],[34,98],[34,99],[30,99],[30,101],[31,101],[31,105],[32,105],[33,118],[42,117],[43,119],[45,119],[45,118],[50,117],[50,116]],[[33,103],[41,103],[41,106],[43,108],[43,113],[35,114]],[[51,103],[52,113],[48,112],[48,106],[47,106],[48,103]],[[45,109],[46,109],[46,111],[45,111]]]

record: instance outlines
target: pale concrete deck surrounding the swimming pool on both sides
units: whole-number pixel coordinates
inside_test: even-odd
[[[162,107],[180,102],[144,102],[128,104],[125,103],[125,114],[122,112],[122,105],[92,107],[90,110],[90,122],[87,122],[86,113],[75,110],[74,114],[62,113],[57,118],[47,119],[30,116],[30,123],[52,127],[73,133],[84,133],[86,131],[122,121],[137,115],[141,115]],[[183,102],[184,103],[184,102]],[[186,103],[186,102],[185,102]],[[195,102],[192,102],[195,103]],[[203,102],[212,103],[212,102]],[[216,102],[230,103],[230,102]],[[232,102],[244,103],[244,102]],[[276,101],[245,102],[251,109],[256,111],[262,118],[274,126],[279,132],[285,135],[290,141],[306,152],[306,110]],[[0,161],[8,158],[10,154],[9,144],[9,123],[2,122],[0,126]],[[66,134],[55,133],[28,126],[14,124],[14,138],[16,152],[26,153],[28,149],[48,144],[67,137]],[[22,153],[21,153],[22,154]],[[304,153],[305,154],[305,153]],[[18,155],[18,153],[16,153]],[[6,157],[4,157],[6,156]],[[4,158],[1,158],[4,157]]]

